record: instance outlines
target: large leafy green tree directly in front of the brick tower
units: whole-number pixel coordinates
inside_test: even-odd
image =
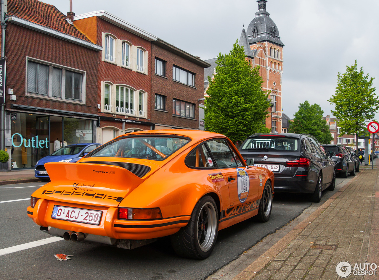
[[[229,54],[219,53],[216,64],[213,80],[208,77],[205,129],[224,134],[234,143],[253,133],[269,132],[265,119],[271,104],[262,91],[259,67],[249,65],[237,42]]]

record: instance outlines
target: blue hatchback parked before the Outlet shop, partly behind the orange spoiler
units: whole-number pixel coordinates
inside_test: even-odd
[[[49,174],[45,169],[46,162],[77,162],[89,152],[101,146],[99,143],[80,143],[75,145],[68,145],[53,152],[50,156],[43,157],[38,160],[34,167],[34,176],[42,182],[50,180]]]

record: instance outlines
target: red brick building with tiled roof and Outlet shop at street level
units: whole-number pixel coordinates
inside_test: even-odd
[[[4,121],[9,169],[34,167],[62,145],[96,139],[102,48],[70,16],[36,0],[8,0]]]

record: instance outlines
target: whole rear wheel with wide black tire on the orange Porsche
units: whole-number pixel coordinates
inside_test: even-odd
[[[211,254],[217,235],[217,205],[213,198],[204,196],[194,207],[188,224],[171,235],[171,244],[176,254],[202,260]]]

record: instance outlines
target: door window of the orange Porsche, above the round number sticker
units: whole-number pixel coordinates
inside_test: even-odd
[[[232,151],[230,151],[230,148],[225,140],[211,140],[207,142],[207,146],[219,168],[237,167]]]

